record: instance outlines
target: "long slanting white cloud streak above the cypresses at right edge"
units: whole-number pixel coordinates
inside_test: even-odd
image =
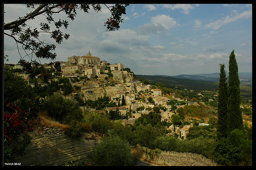
[[[236,12],[234,12],[234,14],[236,14]],[[204,26],[204,28],[210,28],[210,29],[213,29],[213,30],[218,30],[220,29],[222,26],[230,23],[230,22],[234,22],[234,21],[237,21],[239,19],[246,19],[246,18],[249,18],[252,16],[252,10],[248,10],[248,11],[244,11],[240,14],[236,14],[234,16],[226,16],[225,18],[223,19],[219,19],[217,21],[214,21],[214,22],[210,22],[208,23],[207,25]]]

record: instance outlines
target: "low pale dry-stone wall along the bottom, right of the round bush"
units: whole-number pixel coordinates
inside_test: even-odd
[[[150,157],[150,149],[137,146],[143,151],[143,159],[150,160],[160,166],[216,166],[217,163],[199,154],[160,151]],[[151,152],[152,153],[152,152]]]

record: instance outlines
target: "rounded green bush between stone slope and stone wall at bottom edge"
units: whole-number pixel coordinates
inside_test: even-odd
[[[88,154],[88,158],[100,166],[131,166],[134,165],[132,147],[119,136],[110,136],[100,141]]]

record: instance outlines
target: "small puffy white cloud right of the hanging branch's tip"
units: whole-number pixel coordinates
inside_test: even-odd
[[[174,28],[177,25],[177,21],[174,18],[171,18],[169,15],[157,15],[155,17],[151,17],[152,23],[157,25],[160,23],[166,30]]]

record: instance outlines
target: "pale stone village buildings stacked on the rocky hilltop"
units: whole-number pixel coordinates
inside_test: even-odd
[[[53,65],[44,64],[45,69],[54,69]],[[175,109],[185,105],[198,105],[197,102],[186,102],[173,96],[164,96],[161,89],[153,88],[152,85],[144,85],[134,78],[130,68],[125,68],[121,63],[110,64],[107,61],[101,61],[99,57],[92,56],[89,52],[86,56],[71,56],[67,62],[60,61],[61,72],[52,73],[52,79],[49,77],[48,82],[40,79],[40,75],[35,76],[36,81],[30,80],[30,75],[25,72],[17,72],[19,77],[28,81],[32,87],[41,86],[49,89],[49,84],[59,82],[63,78],[70,80],[73,90],[70,93],[63,94],[60,89],[51,89],[50,91],[59,92],[65,95],[66,99],[76,99],[78,101],[96,101],[99,98],[107,96],[114,107],[104,107],[107,112],[117,111],[120,117],[126,117],[123,124],[134,124],[142,114],[148,114],[155,111],[161,114],[161,121],[172,122],[172,115],[176,114]],[[13,66],[14,69],[22,69],[19,64]],[[62,87],[63,83],[60,83]],[[46,99],[47,95],[41,96]],[[170,101],[178,101],[173,105]],[[82,102],[84,103],[84,102]],[[116,107],[117,106],[117,107]],[[82,110],[95,111],[96,108],[80,105]],[[155,109],[154,109],[155,108]],[[157,109],[159,108],[159,110]],[[157,110],[157,111],[156,111]],[[200,124],[208,125],[208,124]],[[181,129],[174,125],[166,127],[170,135],[180,134],[180,138],[185,139],[191,125],[185,125]]]

